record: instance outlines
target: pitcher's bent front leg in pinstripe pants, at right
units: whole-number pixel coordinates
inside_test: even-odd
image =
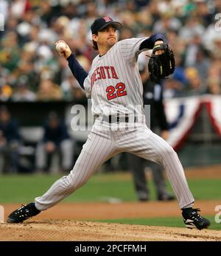
[[[183,167],[177,153],[164,139],[148,128],[141,128],[136,132],[134,145],[130,145],[128,151],[163,165],[180,208],[192,207],[194,198],[189,190]]]

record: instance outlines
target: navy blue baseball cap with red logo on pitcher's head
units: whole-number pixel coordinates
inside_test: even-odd
[[[97,18],[94,23],[91,25],[91,32],[92,34],[96,34],[98,31],[103,30],[108,25],[113,25],[116,30],[119,30],[122,27],[118,21],[113,21],[112,18],[106,16],[103,18]]]

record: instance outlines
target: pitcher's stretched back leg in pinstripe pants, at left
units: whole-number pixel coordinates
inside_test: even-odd
[[[113,156],[114,151],[115,145],[111,140],[94,133],[89,134],[73,170],[68,176],[55,181],[43,196],[35,198],[36,208],[46,210],[82,187],[94,171]]]

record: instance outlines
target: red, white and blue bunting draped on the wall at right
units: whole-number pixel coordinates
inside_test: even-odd
[[[185,142],[203,104],[206,105],[211,124],[221,136],[221,96],[204,95],[165,100],[166,118],[169,122],[167,142],[175,150]]]

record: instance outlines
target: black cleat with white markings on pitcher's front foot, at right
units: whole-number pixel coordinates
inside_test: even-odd
[[[186,208],[183,209],[183,221],[186,227],[189,229],[197,228],[197,229],[206,229],[210,225],[210,221],[208,219],[203,218],[198,212],[200,209],[192,209]]]

